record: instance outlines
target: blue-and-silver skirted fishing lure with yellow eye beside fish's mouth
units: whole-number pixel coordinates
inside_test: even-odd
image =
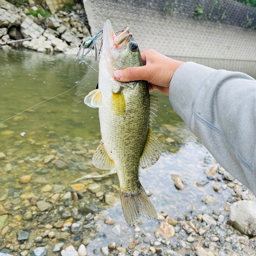
[[[102,35],[103,35],[103,30],[102,28],[99,26],[100,31],[96,32],[96,34],[94,36],[88,36],[86,37],[83,41],[82,44],[76,54],[76,61],[79,61],[79,56],[81,53],[81,50],[83,49],[82,52],[82,58],[81,60],[78,62],[78,64],[80,64],[81,62],[86,63],[87,67],[92,68],[93,70],[95,70],[92,66],[89,65],[89,63],[85,60],[86,56],[91,52],[93,55],[92,50],[95,50],[95,54],[93,55],[95,61],[97,61],[98,56],[100,55],[100,51],[101,51],[101,47],[102,47]],[[100,47],[99,47],[99,41],[100,41]],[[86,51],[86,49],[88,49],[88,51],[86,52],[86,54],[84,54],[84,51]],[[76,62],[76,64],[77,64]],[[95,70],[97,71],[97,70]],[[97,71],[98,72],[98,71]]]

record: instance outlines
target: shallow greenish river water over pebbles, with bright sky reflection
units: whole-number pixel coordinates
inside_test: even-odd
[[[62,54],[10,50],[0,51],[0,59],[0,121],[69,90],[88,73],[85,65],[76,68],[74,57]],[[214,62],[215,68],[226,65],[218,63]],[[239,67],[235,63],[232,65]],[[7,232],[8,237],[4,235],[6,241],[12,241],[14,233],[24,227],[32,226],[29,242],[33,241],[34,245],[31,248],[35,248],[38,242],[35,238],[41,237],[40,244],[52,250],[57,241],[44,237],[47,223],[54,226],[58,241],[79,246],[87,239],[89,253],[95,254],[99,253],[101,246],[112,242],[127,247],[134,239],[144,242],[154,239],[159,221],[140,217],[141,233],[146,234],[142,237],[126,225],[119,200],[115,200],[119,198],[116,175],[81,181],[78,186],[72,186],[72,181],[82,175],[104,174],[92,165],[91,160],[100,140],[98,110],[83,104],[83,98],[95,89],[97,76],[90,70],[86,79],[72,91],[0,124],[0,152],[6,155],[0,160],[0,203],[11,212],[10,222],[17,224]],[[196,186],[197,181],[207,180],[204,173],[216,165],[214,159],[174,113],[168,97],[158,92],[154,94],[160,98],[160,108],[153,130],[162,141],[164,152],[157,164],[141,170],[140,177],[144,188],[153,193],[151,200],[157,212],[184,219],[188,212],[192,215],[192,212],[201,214],[212,209],[223,210],[223,202],[229,197],[231,188],[219,194],[212,190],[220,175],[217,174],[216,181],[204,187]],[[173,142],[167,142],[172,141],[167,138]],[[56,159],[63,160],[66,166],[57,165]],[[184,179],[183,191],[175,188],[170,174]],[[30,176],[29,181],[20,182],[20,177],[25,175]],[[105,196],[96,197],[90,189],[92,184],[100,185],[99,190]],[[78,201],[71,198],[70,192],[73,199],[76,197],[74,192],[78,193]],[[111,202],[106,195],[112,198]],[[214,195],[219,203],[205,205],[201,199],[209,195]],[[67,197],[66,201],[63,196]],[[38,200],[47,200],[52,208],[38,210],[35,207]],[[94,219],[87,216],[94,212],[86,208],[88,204],[100,209]],[[28,211],[33,217],[25,218]],[[70,217],[84,225],[80,233],[60,231],[63,221]],[[104,224],[106,217],[114,219],[114,227]],[[59,221],[62,224],[57,227],[55,223]],[[177,239],[173,238],[170,243],[177,244]],[[4,248],[3,241],[0,241],[0,246]]]

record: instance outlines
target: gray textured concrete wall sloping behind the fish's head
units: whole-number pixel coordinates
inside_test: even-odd
[[[154,8],[148,6],[151,2]],[[243,27],[243,22],[240,22],[241,26],[233,26],[228,24],[231,16],[225,23],[193,17],[193,13],[184,11],[194,10],[192,7],[197,3],[190,0],[186,1],[189,8],[175,10],[170,5],[172,11],[163,11],[162,1],[154,3],[144,0],[84,0],[92,33],[98,30],[98,24],[102,25],[104,19],[109,18],[114,30],[129,26],[141,50],[154,49],[168,56],[256,60],[256,30]],[[181,3],[184,4],[185,0]],[[241,4],[235,3],[234,6]],[[247,8],[254,11],[254,8],[245,6]],[[208,11],[207,15],[209,17]]]

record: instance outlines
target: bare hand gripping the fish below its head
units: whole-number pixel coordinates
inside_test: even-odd
[[[150,92],[158,90],[169,95],[170,80],[184,62],[168,58],[154,50],[141,52],[141,58],[145,66],[116,70],[114,78],[121,82],[145,80],[148,81]]]

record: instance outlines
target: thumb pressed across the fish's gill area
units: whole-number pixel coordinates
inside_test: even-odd
[[[142,66],[142,67],[133,67],[133,68],[127,68],[123,70],[116,70],[113,73],[113,76],[116,80],[122,81],[122,82],[130,82],[130,81],[136,81],[136,80],[148,80],[150,72],[148,72],[148,67]]]

